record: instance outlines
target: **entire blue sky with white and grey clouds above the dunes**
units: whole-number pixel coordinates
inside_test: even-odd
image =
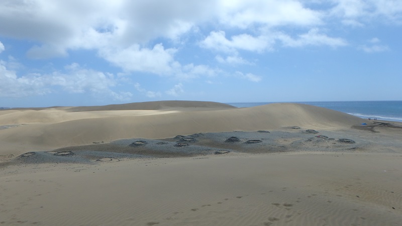
[[[402,100],[400,0],[1,0],[0,106]]]

